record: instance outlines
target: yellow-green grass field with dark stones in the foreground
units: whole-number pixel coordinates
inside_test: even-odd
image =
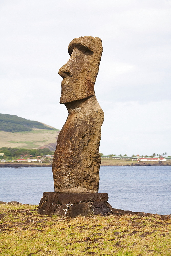
[[[171,220],[160,216],[40,216],[36,205],[0,204],[0,254],[171,255]]]

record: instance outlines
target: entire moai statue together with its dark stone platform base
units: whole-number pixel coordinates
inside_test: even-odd
[[[106,214],[112,211],[107,193],[98,193],[101,158],[99,143],[104,113],[94,92],[102,42],[98,37],[73,39],[70,59],[59,69],[63,77],[60,103],[68,118],[58,136],[52,164],[55,192],[45,192],[40,214]]]

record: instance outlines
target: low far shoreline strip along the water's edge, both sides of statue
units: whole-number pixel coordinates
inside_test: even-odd
[[[127,160],[113,160],[113,159],[102,159],[100,166],[171,166],[171,161],[167,162],[137,162],[137,161],[127,161]],[[12,167],[12,168],[22,168],[22,167],[52,167],[52,163],[9,163],[0,162],[0,168]]]

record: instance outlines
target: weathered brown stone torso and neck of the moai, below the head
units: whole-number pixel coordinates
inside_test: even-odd
[[[95,95],[65,105],[69,115],[58,136],[52,167],[55,192],[97,193],[104,113]]]

